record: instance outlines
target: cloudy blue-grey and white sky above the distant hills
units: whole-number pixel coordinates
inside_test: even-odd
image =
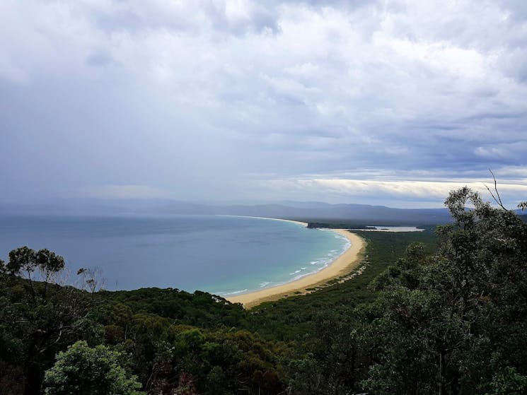
[[[0,203],[527,200],[527,2],[3,0]]]

